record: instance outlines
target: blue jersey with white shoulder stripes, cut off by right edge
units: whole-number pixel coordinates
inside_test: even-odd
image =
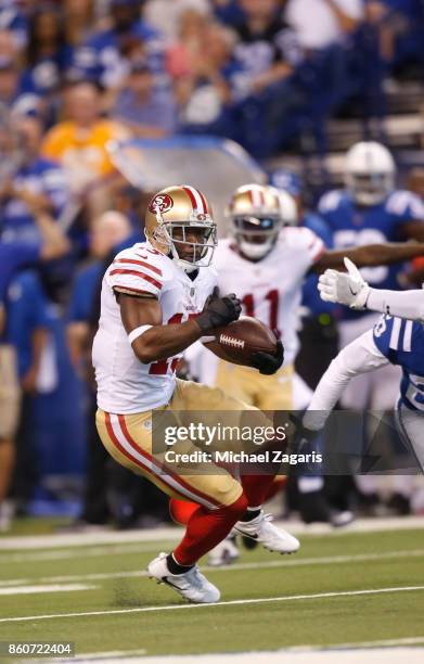
[[[374,327],[373,336],[378,350],[402,369],[400,395],[403,404],[424,411],[423,323],[383,316]]]

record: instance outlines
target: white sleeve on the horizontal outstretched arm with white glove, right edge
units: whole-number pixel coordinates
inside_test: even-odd
[[[383,291],[370,289],[367,309],[424,323],[424,290]]]

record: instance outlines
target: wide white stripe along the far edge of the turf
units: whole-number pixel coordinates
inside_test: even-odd
[[[339,536],[345,533],[375,533],[383,531],[421,529],[424,527],[423,516],[399,516],[393,519],[358,519],[347,528],[332,528],[329,524],[306,525],[297,521],[275,521],[294,535],[332,535]],[[0,537],[0,549],[49,549],[65,547],[82,547],[90,545],[146,542],[160,539],[176,539],[181,537],[183,529],[166,526],[153,529],[131,531],[129,533],[107,531],[104,533],[56,533],[52,535],[34,535],[30,537]]]

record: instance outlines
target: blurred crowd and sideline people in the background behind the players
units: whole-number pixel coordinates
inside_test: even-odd
[[[423,44],[422,0],[0,0],[0,525],[12,506],[78,527],[167,519],[94,430],[100,283],[111,256],[143,240],[151,195],[106,145],[232,139],[280,173],[331,246],[317,203],[355,140],[395,149],[403,184],[424,196]],[[298,370],[313,387],[317,344],[325,361],[337,348],[336,314],[305,298]],[[382,507],[373,488],[362,498]],[[390,500],[411,509],[399,487]]]

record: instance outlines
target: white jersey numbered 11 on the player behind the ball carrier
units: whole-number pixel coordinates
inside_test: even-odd
[[[324,248],[322,240],[308,228],[285,227],[271,252],[257,263],[244,258],[229,238],[219,241],[215,252],[221,294],[235,293],[243,303],[243,314],[279,331],[287,365],[298,350],[303,281]]]

